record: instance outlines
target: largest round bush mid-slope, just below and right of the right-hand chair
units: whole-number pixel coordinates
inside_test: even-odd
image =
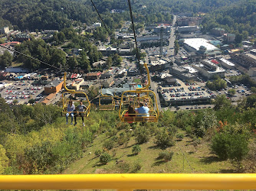
[[[169,133],[169,131],[166,131],[166,129],[164,129],[160,134],[156,135],[155,144],[162,148],[171,147],[175,144],[175,141],[173,141],[173,137],[173,134]]]

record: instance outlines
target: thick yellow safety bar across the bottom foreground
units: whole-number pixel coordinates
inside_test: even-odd
[[[256,174],[2,175],[0,189],[256,189]]]

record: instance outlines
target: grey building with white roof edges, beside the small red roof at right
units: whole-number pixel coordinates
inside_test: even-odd
[[[209,60],[202,60],[202,63],[192,64],[192,66],[199,70],[199,73],[202,76],[205,76],[208,79],[211,79],[213,76],[218,75],[221,78],[225,77],[225,70],[219,66],[216,66],[215,63],[212,63]]]

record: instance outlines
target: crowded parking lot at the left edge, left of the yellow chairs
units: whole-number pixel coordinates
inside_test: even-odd
[[[11,86],[2,89],[0,93],[2,98],[4,98],[9,104],[13,103],[14,100],[17,100],[18,104],[23,104],[25,102],[28,102],[29,99],[39,101],[43,98],[41,92],[44,91],[44,87],[32,86],[32,80],[24,80],[21,82],[10,81],[8,83],[12,83]]]

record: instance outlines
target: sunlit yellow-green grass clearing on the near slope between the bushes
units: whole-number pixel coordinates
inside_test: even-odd
[[[107,137],[104,134],[100,134],[100,136],[94,140],[94,143],[87,147],[84,157],[72,163],[64,173],[125,173],[118,167],[116,163],[117,159],[129,163],[130,169],[128,170],[128,173],[133,173],[133,166],[135,163],[141,163],[143,166],[137,173],[235,172],[235,168],[232,167],[231,162],[227,160],[218,160],[214,154],[211,154],[208,142],[202,142],[202,144],[195,147],[192,139],[188,136],[185,136],[182,141],[177,141],[175,146],[167,148],[167,151],[174,152],[172,160],[169,162],[163,162],[162,160],[156,159],[159,152],[162,150],[159,147],[156,147],[154,138],[150,138],[149,142],[141,144],[141,152],[134,156],[132,154],[132,147],[133,144],[135,144],[133,137],[130,139],[127,147],[124,145],[114,147],[113,150],[117,151],[116,156],[113,157],[113,160],[107,163],[107,165],[101,165],[99,157],[95,157],[94,151],[101,149],[105,140],[107,140]],[[113,155],[113,150],[109,152],[111,155]],[[185,156],[184,170],[183,154]]]

